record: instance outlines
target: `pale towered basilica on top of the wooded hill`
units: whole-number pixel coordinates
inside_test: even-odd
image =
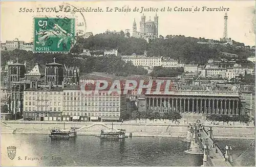
[[[137,31],[137,24],[134,19],[133,22],[133,37],[143,38],[148,41],[148,39],[154,39],[158,37],[158,16],[157,14],[154,16],[154,21],[149,20],[145,21],[146,17],[144,14],[141,16],[140,21],[140,31]]]

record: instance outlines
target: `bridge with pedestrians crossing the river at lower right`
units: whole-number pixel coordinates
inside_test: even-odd
[[[232,148],[225,147],[225,152],[222,152],[220,147],[214,141],[212,135],[212,127],[208,130],[204,126],[197,123],[188,126],[187,142],[190,146],[186,153],[189,154],[203,154],[202,166],[232,166]]]

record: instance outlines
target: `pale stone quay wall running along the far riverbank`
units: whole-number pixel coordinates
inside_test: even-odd
[[[186,123],[172,123],[164,121],[143,122],[117,122],[113,123],[113,130],[125,129],[127,136],[143,137],[186,137]],[[47,122],[47,121],[2,121],[1,133],[15,134],[49,134],[52,128],[70,129],[75,127],[77,135],[97,135],[101,129],[112,129],[111,122]],[[255,128],[252,126],[235,125],[205,125],[212,127],[216,139],[254,139]]]

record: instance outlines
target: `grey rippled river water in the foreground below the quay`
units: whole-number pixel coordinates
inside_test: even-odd
[[[7,147],[16,147],[10,160]],[[2,165],[144,165],[200,166],[203,155],[185,153],[187,143],[180,138],[133,137],[105,141],[78,135],[70,140],[51,140],[42,134],[2,134]]]

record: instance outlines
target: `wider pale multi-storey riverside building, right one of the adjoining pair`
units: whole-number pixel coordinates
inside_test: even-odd
[[[63,121],[118,121],[126,115],[126,94],[109,90],[82,93],[80,86],[63,89]]]

